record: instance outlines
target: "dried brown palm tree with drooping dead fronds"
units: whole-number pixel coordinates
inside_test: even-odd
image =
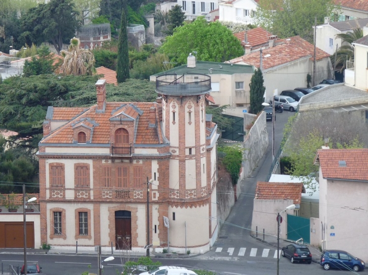
[[[59,71],[64,75],[92,75],[96,72],[95,57],[88,49],[80,48],[81,41],[73,37],[70,40],[68,50],[60,51],[60,55],[64,57],[64,61]]]

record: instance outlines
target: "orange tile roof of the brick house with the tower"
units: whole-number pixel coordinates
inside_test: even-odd
[[[52,132],[49,136],[44,137],[40,143],[73,143],[73,126],[78,124],[80,121],[84,121],[88,119],[93,122],[93,136],[92,143],[102,143],[108,144],[110,143],[110,118],[114,117],[116,113],[124,112],[125,115],[128,115],[133,118],[137,118],[135,123],[138,124],[136,127],[135,133],[135,143],[136,144],[162,144],[163,137],[162,131],[160,128],[160,121],[162,121],[162,107],[161,105],[153,102],[137,102],[137,103],[123,103],[123,102],[106,102],[105,112],[98,113],[96,112],[97,105],[94,105],[87,109],[87,111],[81,113],[81,109],[84,108],[54,108],[56,112],[54,112],[54,116],[52,120],[55,118],[70,118],[71,116],[75,116],[75,114],[80,114],[76,118],[72,119],[70,122],[66,123],[59,129]],[[155,107],[156,112],[156,121],[157,128],[148,127],[150,121],[150,108]],[[118,110],[117,110],[118,109]],[[138,109],[141,112],[141,115],[137,112]],[[117,112],[116,112],[117,111]],[[56,113],[56,114],[55,114]],[[84,122],[86,124],[86,122]],[[89,126],[93,126],[92,124],[88,124]]]

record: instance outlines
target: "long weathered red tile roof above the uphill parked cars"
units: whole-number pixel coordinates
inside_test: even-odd
[[[271,56],[263,58],[263,68],[268,69],[277,65],[285,64],[302,57],[308,57],[313,60],[314,46],[299,36],[290,37],[288,39],[277,40],[276,45],[272,48],[264,49],[263,56],[270,54]],[[329,57],[330,54],[317,48],[316,60]],[[231,63],[244,62],[249,65],[260,67],[260,52],[252,52],[230,60]]]

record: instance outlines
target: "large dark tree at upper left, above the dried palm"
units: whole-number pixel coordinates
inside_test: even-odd
[[[63,49],[79,27],[78,12],[72,0],[50,0],[30,9],[21,18],[23,34],[28,45],[50,42],[57,53]]]

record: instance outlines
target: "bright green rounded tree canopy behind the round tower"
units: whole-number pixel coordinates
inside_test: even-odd
[[[172,62],[187,63],[189,53],[196,51],[197,60],[224,62],[241,56],[240,41],[219,22],[207,22],[203,17],[177,27],[161,47]]]

